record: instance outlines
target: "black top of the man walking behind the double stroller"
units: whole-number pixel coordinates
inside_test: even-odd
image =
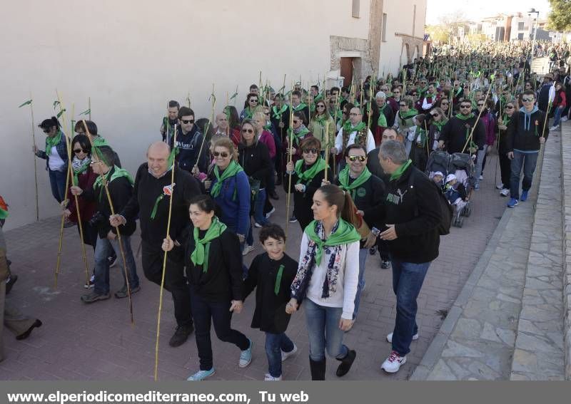
[[[476,119],[477,115],[474,115],[473,118],[467,120],[461,120],[455,116],[448,120],[448,122],[442,128],[439,139],[444,140],[446,151],[448,151],[450,154],[463,152],[463,147],[466,144],[466,140],[468,140],[466,130],[468,130],[468,136],[470,136]],[[481,120],[477,121],[476,128],[472,137],[472,141],[477,145],[477,148],[481,150],[482,147],[484,147],[486,140],[485,128]],[[469,147],[470,144],[466,145],[464,152],[467,152],[466,150],[468,150]]]

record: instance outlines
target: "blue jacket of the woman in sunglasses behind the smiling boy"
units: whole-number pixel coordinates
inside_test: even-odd
[[[216,181],[216,177],[214,177],[210,189],[213,188]],[[235,191],[236,197],[234,197]],[[213,198],[222,210],[222,222],[232,232],[242,234],[244,237],[248,235],[250,229],[250,195],[248,175],[241,171],[233,177],[226,178],[222,183],[220,194]]]

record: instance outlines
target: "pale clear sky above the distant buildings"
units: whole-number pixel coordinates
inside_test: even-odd
[[[550,11],[548,0],[427,0],[426,24],[438,24],[438,18],[456,10],[463,11],[468,20],[477,20],[495,14],[527,14],[527,10],[540,12],[540,20]]]

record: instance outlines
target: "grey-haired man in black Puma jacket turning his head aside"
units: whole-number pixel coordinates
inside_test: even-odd
[[[418,338],[416,299],[430,262],[438,257],[442,214],[438,188],[412,165],[402,143],[383,142],[379,160],[390,174],[387,197],[365,219],[385,229],[380,238],[388,241],[393,264],[397,314],[394,331],[387,336],[393,348],[381,368],[395,373],[406,362],[411,341]]]

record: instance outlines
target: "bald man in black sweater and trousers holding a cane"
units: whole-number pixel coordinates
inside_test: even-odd
[[[138,215],[143,240],[143,271],[149,281],[160,285],[164,254],[161,245],[166,236],[170,199],[173,199],[169,235],[175,240],[175,248],[168,253],[164,286],[173,295],[177,323],[169,345],[180,346],[194,329],[191,296],[183,274],[184,249],[180,237],[190,223],[188,201],[200,195],[201,190],[198,181],[178,167],[174,167],[174,185],[171,188],[173,163],[169,162],[170,154],[171,148],[163,142],[148,147],[147,162],[137,170],[131,200],[109,220],[112,226],[117,227]]]

